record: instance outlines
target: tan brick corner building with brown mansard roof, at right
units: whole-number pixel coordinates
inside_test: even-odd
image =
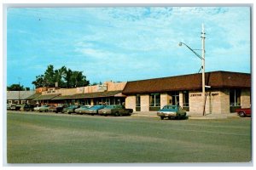
[[[127,82],[126,108],[158,111],[164,105],[181,105],[189,115],[222,114],[251,106],[251,75],[229,71],[206,73],[206,97],[201,73]]]

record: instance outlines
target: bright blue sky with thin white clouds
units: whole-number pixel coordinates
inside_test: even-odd
[[[194,74],[206,32],[206,71],[251,72],[249,7],[8,8],[7,85],[33,88],[48,65],[93,82]]]

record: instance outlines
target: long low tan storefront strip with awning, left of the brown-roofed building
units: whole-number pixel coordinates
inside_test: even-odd
[[[121,105],[125,103],[122,90],[126,82],[104,82],[79,88],[47,88],[38,98],[39,105]]]

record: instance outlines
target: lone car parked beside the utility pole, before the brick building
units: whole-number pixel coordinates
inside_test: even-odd
[[[165,105],[160,111],[157,111],[157,116],[160,116],[161,120],[165,117],[168,117],[168,119],[172,117],[180,119],[185,118],[186,115],[186,111],[180,105]]]

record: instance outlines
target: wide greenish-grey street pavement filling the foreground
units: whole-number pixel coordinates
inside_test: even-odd
[[[163,120],[9,112],[8,163],[247,162],[250,118]]]

